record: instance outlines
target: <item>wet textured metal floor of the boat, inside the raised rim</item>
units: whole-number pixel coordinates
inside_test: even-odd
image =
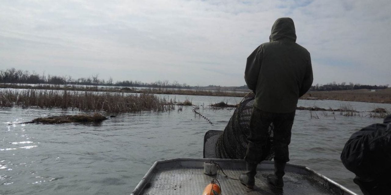
[[[239,178],[243,169],[223,169],[224,173],[232,178]],[[218,181],[222,195],[334,195],[329,188],[315,180],[311,175],[294,172],[285,173],[282,190],[274,188],[267,182],[267,175],[273,170],[258,170],[255,177],[254,189],[246,188],[238,180],[225,177],[219,172]],[[166,168],[156,170],[149,183],[144,187],[143,195],[201,195],[205,186],[215,176],[203,173],[203,168]]]

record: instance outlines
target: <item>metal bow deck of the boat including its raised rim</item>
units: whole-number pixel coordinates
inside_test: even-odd
[[[216,176],[203,173],[204,162],[210,159],[172,159],[157,161],[132,195],[200,195],[205,186]],[[244,160],[213,159],[219,163],[226,175],[239,178],[246,170]],[[255,187],[246,188],[239,181],[225,177],[220,171],[218,181],[222,195],[355,195],[352,191],[322,176],[315,171],[298,165],[287,164],[284,187],[273,188],[267,183],[267,174],[273,174],[273,161],[264,161],[257,168]]]

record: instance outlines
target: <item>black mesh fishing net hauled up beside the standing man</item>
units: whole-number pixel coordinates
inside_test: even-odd
[[[204,158],[244,159],[254,99],[255,94],[252,92],[243,98],[224,131],[206,132]],[[273,125],[269,126],[269,138],[262,153],[264,160],[271,160],[274,157]]]

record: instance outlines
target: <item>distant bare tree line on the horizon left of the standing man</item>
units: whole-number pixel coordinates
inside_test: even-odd
[[[117,81],[113,78],[108,80],[100,79],[99,74],[94,74],[87,78],[74,79],[71,76],[42,75],[36,72],[17,70],[15,68],[0,70],[0,83],[28,83],[28,84],[55,84],[55,85],[109,85],[120,87],[153,87],[153,88],[179,88],[189,89],[186,83],[180,84],[177,81],[170,83],[168,80],[156,81],[152,83],[143,83],[140,81]]]

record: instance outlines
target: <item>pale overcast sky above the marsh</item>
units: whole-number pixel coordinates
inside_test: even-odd
[[[391,84],[389,0],[2,0],[0,70],[240,86],[248,55],[291,17],[314,85]]]

